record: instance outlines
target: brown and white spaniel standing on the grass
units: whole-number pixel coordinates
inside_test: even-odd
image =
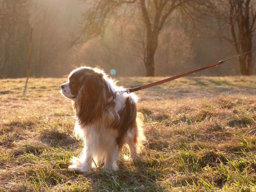
[[[138,158],[137,149],[145,139],[143,115],[137,113],[135,94],[116,94],[123,90],[100,68],[80,67],[62,84],[61,93],[74,101],[76,136],[84,140],[80,158],[73,157],[69,168],[88,172],[93,164],[117,170],[117,160],[124,145],[130,158]]]

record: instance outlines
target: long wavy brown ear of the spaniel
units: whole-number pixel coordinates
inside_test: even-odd
[[[82,79],[82,87],[74,102],[79,124],[90,125],[102,119],[104,108],[111,95],[102,73],[86,74]]]

